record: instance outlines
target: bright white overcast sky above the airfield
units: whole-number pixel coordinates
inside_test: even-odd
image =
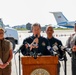
[[[61,11],[69,21],[76,20],[76,0],[0,0],[0,18],[5,25],[38,22],[57,24],[53,14]]]

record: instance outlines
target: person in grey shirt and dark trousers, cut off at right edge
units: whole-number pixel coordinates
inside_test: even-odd
[[[66,42],[66,46],[72,49],[72,75],[76,75],[76,23],[74,31],[75,33],[72,34]]]

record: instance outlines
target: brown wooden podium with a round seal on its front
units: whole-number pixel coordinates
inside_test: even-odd
[[[23,75],[58,75],[57,56],[38,56],[34,59],[31,56],[21,57]]]

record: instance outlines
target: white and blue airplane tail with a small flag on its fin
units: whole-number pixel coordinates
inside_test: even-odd
[[[68,21],[68,19],[63,15],[62,12],[50,12],[54,15],[57,25],[66,28],[74,28],[76,21]]]

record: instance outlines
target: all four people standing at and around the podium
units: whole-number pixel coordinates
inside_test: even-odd
[[[76,75],[76,24],[75,33],[70,36],[66,42],[67,48],[71,48],[72,57],[72,75]],[[46,28],[47,37],[41,36],[41,25],[34,23],[32,25],[33,35],[23,40],[21,53],[24,56],[33,56],[35,59],[38,55],[58,55],[58,60],[64,58],[64,51],[61,50],[62,42],[53,36],[54,29],[51,25]],[[53,50],[52,50],[53,49]],[[56,54],[54,54],[54,49]],[[13,58],[12,44],[4,39],[4,30],[0,28],[0,75],[11,75],[11,60]],[[58,61],[58,75],[60,75],[60,62]],[[64,61],[64,59],[63,59]],[[7,72],[8,71],[8,72]]]

